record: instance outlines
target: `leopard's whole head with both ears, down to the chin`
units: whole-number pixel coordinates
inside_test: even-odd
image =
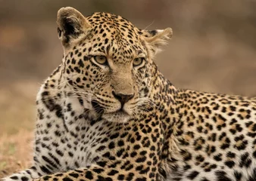
[[[59,11],[58,25],[63,81],[86,111],[108,121],[128,121],[151,103],[154,43],[168,38],[170,29],[139,30],[120,16],[83,17],[73,8]]]

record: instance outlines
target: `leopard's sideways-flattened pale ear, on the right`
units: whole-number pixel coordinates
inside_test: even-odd
[[[153,55],[161,51],[161,46],[167,44],[173,35],[173,30],[171,28],[167,29],[156,29],[156,30],[141,30],[140,34],[143,36],[145,41],[148,42],[149,48]]]

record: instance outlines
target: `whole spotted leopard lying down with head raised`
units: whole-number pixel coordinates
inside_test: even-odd
[[[154,62],[172,29],[70,7],[57,25],[32,167],[3,181],[256,180],[256,99],[176,88]]]

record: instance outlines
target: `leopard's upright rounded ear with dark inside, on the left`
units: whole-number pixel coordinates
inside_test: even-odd
[[[79,11],[74,8],[61,8],[57,14],[58,38],[64,48],[70,47],[72,41],[86,33],[91,25]]]

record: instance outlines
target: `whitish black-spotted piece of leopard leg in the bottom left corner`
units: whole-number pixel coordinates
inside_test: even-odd
[[[40,176],[42,176],[42,174],[36,170],[36,167],[30,167],[27,170],[14,173],[11,176],[7,176],[0,180],[1,181],[30,181],[32,179],[39,178]]]

